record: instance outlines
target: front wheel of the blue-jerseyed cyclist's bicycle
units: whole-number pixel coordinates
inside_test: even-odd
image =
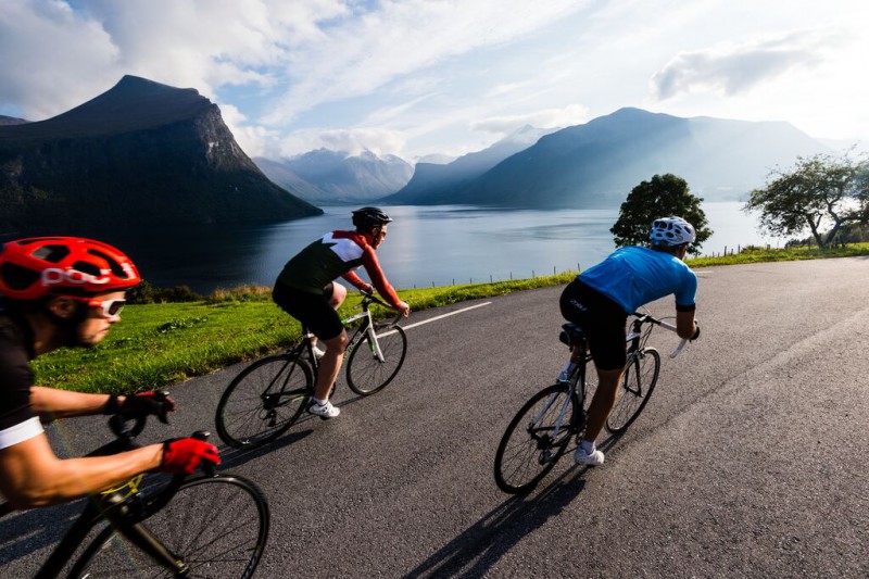
[[[640,416],[658,381],[658,372],[660,354],[654,348],[645,348],[628,357],[616,404],[606,419],[607,430],[620,435]]]

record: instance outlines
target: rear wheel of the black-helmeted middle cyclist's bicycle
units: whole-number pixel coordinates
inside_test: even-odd
[[[254,362],[221,397],[217,435],[237,449],[262,446],[292,426],[313,388],[311,367],[304,360],[279,354]]]

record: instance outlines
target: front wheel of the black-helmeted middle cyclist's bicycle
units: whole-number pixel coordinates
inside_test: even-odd
[[[407,336],[401,326],[377,324],[374,328],[383,362],[377,357],[368,335],[356,342],[347,361],[347,383],[361,397],[374,394],[391,382],[407,354]]]

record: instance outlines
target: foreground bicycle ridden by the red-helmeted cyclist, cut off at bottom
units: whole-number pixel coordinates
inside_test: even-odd
[[[131,420],[113,416],[109,424],[116,439],[88,456],[138,448],[134,439],[146,418],[134,420],[130,427]],[[207,436],[193,435],[200,440]],[[89,496],[37,579],[251,577],[268,540],[268,502],[242,477],[203,470],[193,476],[155,476],[148,488],[139,475]],[[0,505],[0,515],[10,511],[8,504]]]

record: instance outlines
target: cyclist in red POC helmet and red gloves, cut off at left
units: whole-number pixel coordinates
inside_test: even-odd
[[[14,508],[64,503],[146,470],[192,474],[219,464],[212,444],[167,440],[112,456],[60,460],[42,421],[91,414],[164,416],[153,392],[85,394],[34,385],[30,361],[61,347],[99,343],[121,319],[125,290],[141,281],[117,249],[90,239],[10,241],[0,253],[0,493]],[[165,418],[163,418],[165,420]]]

